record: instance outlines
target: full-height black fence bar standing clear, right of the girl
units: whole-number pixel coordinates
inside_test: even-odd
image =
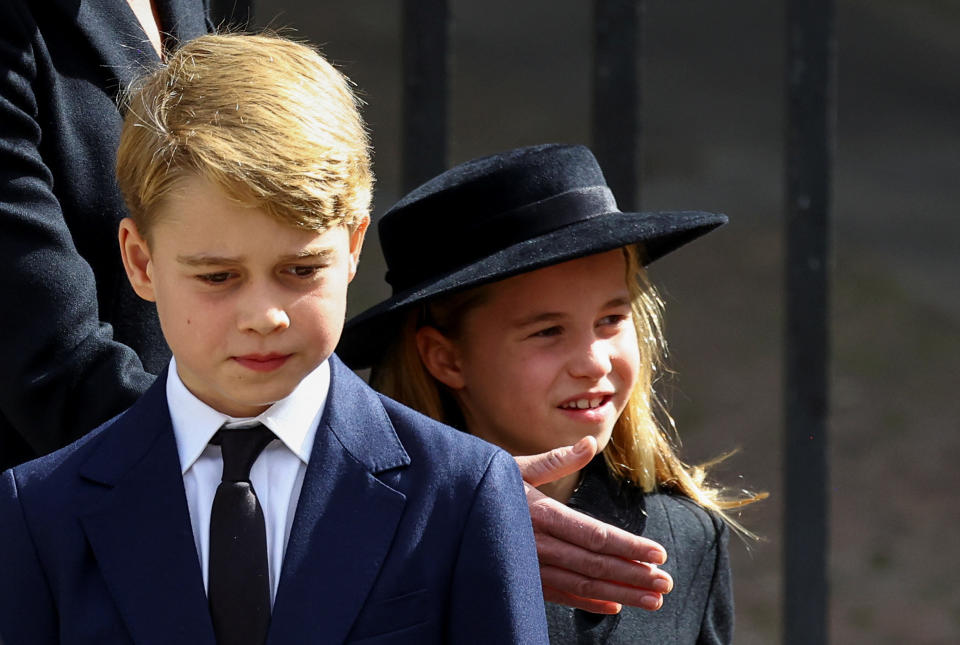
[[[788,0],[784,642],[827,642],[834,0]]]

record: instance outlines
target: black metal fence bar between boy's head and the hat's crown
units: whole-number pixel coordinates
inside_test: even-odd
[[[447,0],[404,0],[402,21],[401,183],[408,191],[447,166]]]

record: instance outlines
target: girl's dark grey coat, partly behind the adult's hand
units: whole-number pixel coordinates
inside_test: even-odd
[[[615,616],[547,605],[553,645],[727,645],[733,642],[728,530],[687,497],[645,494],[610,476],[602,456],[584,471],[570,506],[662,544],[673,591],[659,611],[624,607]]]

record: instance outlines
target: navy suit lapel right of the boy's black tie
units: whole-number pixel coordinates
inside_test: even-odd
[[[387,557],[405,496],[376,476],[407,466],[377,396],[335,356],[284,556],[268,643],[343,641]]]

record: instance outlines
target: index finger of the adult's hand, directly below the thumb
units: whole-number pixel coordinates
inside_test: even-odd
[[[550,535],[592,553],[651,564],[667,561],[666,550],[653,540],[604,524],[546,495],[537,495],[537,492],[527,491],[530,519],[535,532]]]

